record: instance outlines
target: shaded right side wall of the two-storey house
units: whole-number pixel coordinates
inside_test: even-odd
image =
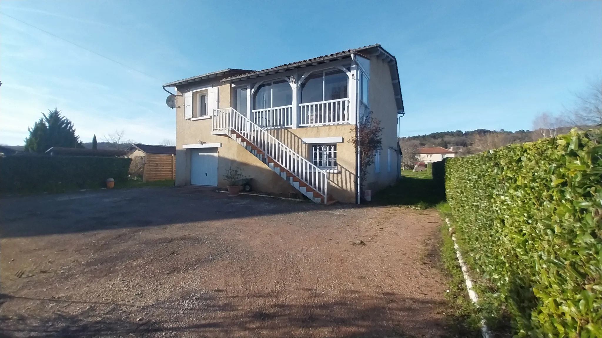
[[[400,159],[397,153],[397,103],[389,65],[370,58],[370,82],[368,100],[372,117],[380,121],[382,131],[382,150],[380,150],[380,173],[375,173],[375,165],[368,168],[364,187],[378,191],[396,182],[400,172]],[[391,149],[391,171],[387,170],[387,152]]]

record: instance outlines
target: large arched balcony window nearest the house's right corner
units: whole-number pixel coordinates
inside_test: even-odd
[[[349,97],[349,76],[340,69],[314,72],[301,85],[301,103],[346,97]]]

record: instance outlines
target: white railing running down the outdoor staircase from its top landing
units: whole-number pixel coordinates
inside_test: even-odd
[[[324,197],[327,202],[327,176],[303,156],[294,152],[277,138],[270,135],[245,115],[234,108],[214,109],[213,129],[215,131],[235,131],[254,146],[261,149],[265,155],[270,156],[276,163]]]

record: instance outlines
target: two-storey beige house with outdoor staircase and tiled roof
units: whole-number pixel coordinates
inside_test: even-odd
[[[250,71],[170,82],[176,97],[176,185],[226,186],[240,167],[256,191],[300,192],[316,203],[359,203],[400,175],[403,113],[397,61],[380,45]],[[358,182],[356,123],[380,120],[382,150]]]

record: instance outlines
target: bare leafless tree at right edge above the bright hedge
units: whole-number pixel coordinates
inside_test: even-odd
[[[576,94],[577,105],[565,109],[573,126],[602,126],[602,80],[592,82],[582,93]]]

